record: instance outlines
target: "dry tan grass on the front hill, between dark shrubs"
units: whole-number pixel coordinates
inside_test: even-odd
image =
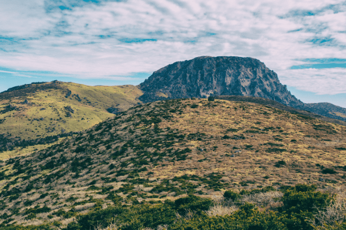
[[[179,106],[182,114],[178,110],[169,112],[171,117],[167,119],[162,118],[162,121],[157,123],[157,127],[163,131],[153,134],[155,125],[144,125],[139,122],[140,118],[138,116],[132,115],[142,115],[151,109],[159,110],[161,103],[164,102],[153,102],[150,105],[129,110],[121,118],[118,118],[117,121],[110,118],[105,123],[102,123],[103,127],[101,129],[95,130],[92,128],[89,133],[81,135],[83,138],[80,139],[80,142],[75,141],[75,139],[67,139],[62,141],[60,145],[52,147],[52,149],[43,150],[41,153],[37,152],[21,158],[20,161],[22,163],[28,162],[33,168],[32,177],[26,181],[19,179],[16,184],[11,184],[10,188],[20,187],[25,182],[34,179],[38,179],[35,186],[41,188],[30,192],[22,192],[20,198],[8,202],[9,206],[5,207],[0,214],[3,214],[5,211],[9,212],[9,208],[12,208],[17,201],[24,201],[24,199],[34,201],[30,204],[30,207],[34,207],[37,204],[43,206],[43,202],[49,199],[45,204],[52,208],[51,212],[57,211],[65,203],[68,207],[64,207],[64,209],[71,209],[73,202],[82,201],[83,199],[87,200],[90,197],[103,202],[102,205],[105,207],[106,203],[110,201],[107,200],[107,193],[101,193],[102,187],[107,186],[114,186],[111,191],[115,191],[117,195],[123,198],[129,197],[129,193],[132,193],[132,191],[138,192],[132,196],[141,202],[164,200],[166,198],[176,199],[186,194],[175,196],[177,194],[175,191],[158,191],[156,193],[153,189],[156,185],[162,183],[164,179],[170,180],[169,184],[173,184],[176,188],[183,189],[180,187],[182,185],[181,182],[171,180],[175,176],[183,176],[185,174],[196,175],[201,178],[210,178],[211,174],[219,176],[210,180],[219,182],[222,185],[221,190],[210,187],[202,180],[194,181],[190,178],[187,179],[186,182],[194,186],[195,195],[203,197],[220,196],[226,189],[231,188],[241,190],[261,188],[266,185],[279,187],[296,183],[315,183],[319,187],[332,187],[346,183],[343,168],[343,165],[346,165],[346,155],[344,154],[346,150],[342,150],[346,147],[344,144],[346,142],[346,127],[344,126],[317,119],[303,118],[296,114],[278,111],[258,104],[223,100],[216,100],[211,103],[206,99],[201,99],[181,101]],[[199,106],[191,108],[189,105],[191,103],[196,103]],[[142,108],[143,111],[139,111]],[[154,115],[152,116],[154,117]],[[141,117],[141,119],[143,118]],[[150,119],[152,117],[146,116],[145,118]],[[127,119],[130,121],[125,121]],[[121,124],[120,121],[122,122]],[[116,122],[119,122],[119,125]],[[136,122],[139,123],[138,126],[140,128],[131,128],[134,132],[130,133],[130,127],[135,126],[134,123]],[[114,124],[114,126],[105,131],[104,128],[108,124]],[[166,146],[165,144],[168,140],[163,140],[164,136],[168,134],[166,127],[169,127],[169,130],[174,131],[174,133],[179,131],[176,135],[182,134],[184,138],[172,137],[169,140],[172,143]],[[146,132],[151,134],[146,135]],[[146,136],[141,136],[141,134]],[[189,134],[195,134],[195,136],[191,137]],[[225,135],[231,138],[224,138]],[[90,136],[92,138],[88,139]],[[119,136],[119,139],[112,140],[110,149],[107,149],[109,147],[106,147],[107,144],[103,141],[107,141],[113,136]],[[161,136],[163,137],[161,138]],[[151,145],[148,145],[149,147],[144,147],[143,149],[150,152],[150,154],[157,153],[156,156],[143,157],[139,151],[133,150],[139,144],[140,138],[142,138],[141,140],[151,138],[150,140],[153,142],[150,144],[159,146],[153,148]],[[161,138],[162,141],[154,141],[154,138]],[[133,142],[134,147],[127,147],[122,156],[113,158],[112,154],[118,151],[127,140]],[[86,158],[83,152],[78,154],[74,152],[74,149],[81,145],[87,146],[90,152],[95,150],[92,153],[88,153],[93,162],[87,168],[82,168],[79,176],[75,176],[75,172],[71,171],[71,161],[75,157],[81,157],[79,158],[80,161]],[[190,152],[187,152],[186,159],[174,160],[169,154],[166,154],[168,149],[171,152],[175,152],[186,147],[191,149]],[[63,151],[57,151],[58,148],[63,149]],[[279,150],[275,151],[275,148]],[[281,151],[280,149],[283,150]],[[48,154],[50,151],[54,153],[55,159],[60,159],[64,156],[68,161],[59,168],[41,170],[40,165],[45,165],[53,156],[46,158],[38,157]],[[161,153],[164,154],[158,156]],[[145,166],[144,171],[139,171],[138,175],[119,174],[117,176],[119,169],[130,171],[135,168],[135,163],[138,160],[144,158],[147,160],[147,164],[143,165]],[[284,161],[285,164],[278,165],[277,162],[279,161]],[[109,163],[113,164],[113,169],[109,169]],[[319,164],[319,166],[316,164]],[[11,175],[16,171],[12,169],[13,164],[5,165],[5,163],[2,163],[2,166],[2,170],[9,169],[6,171],[7,175]],[[333,168],[336,173],[323,174],[322,166],[324,168]],[[66,170],[67,173],[61,177],[54,177],[51,182],[43,182],[44,178],[46,178],[45,176],[57,173],[60,169]],[[108,172],[113,173],[108,174]],[[25,175],[21,174],[20,176],[23,177]],[[40,180],[39,178],[43,179]],[[132,183],[132,179],[143,179],[143,181],[145,180],[145,185],[144,182],[142,184]],[[14,181],[15,177],[11,177],[10,180]],[[1,187],[5,187],[10,180],[0,181]],[[98,188],[94,190],[88,189],[91,187],[90,183],[92,181],[94,181],[93,185]],[[118,191],[124,185],[134,186],[133,190],[127,193]],[[23,190],[25,187],[26,184],[20,187],[20,189]],[[184,189],[186,192],[186,188]],[[50,193],[50,195],[57,193],[59,197],[50,198],[50,196],[47,196],[44,199],[40,199],[41,194],[45,192]],[[154,196],[139,198],[141,194]],[[65,202],[71,195],[78,199],[73,202]],[[282,195],[280,192],[248,195],[244,196],[241,202],[252,202],[258,206],[264,206],[265,209],[275,209],[281,203],[276,202],[273,198],[280,197],[280,195]],[[129,202],[131,201],[123,201],[123,203]],[[95,204],[96,201],[88,201],[85,204],[77,205],[75,208],[78,213],[82,213]],[[24,210],[23,203],[18,205]],[[219,203],[213,207],[214,209],[209,210],[209,213],[217,215],[231,213],[234,211],[232,205]],[[335,209],[336,207],[332,208]],[[193,213],[184,217],[189,217],[191,214]],[[17,221],[18,224],[27,221],[24,219],[24,216],[16,216],[16,218],[14,221]],[[45,216],[42,218],[44,219]],[[33,221],[36,220],[34,219]]]

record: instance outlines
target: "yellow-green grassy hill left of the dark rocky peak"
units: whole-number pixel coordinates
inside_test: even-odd
[[[90,128],[141,103],[136,99],[141,94],[134,85],[88,86],[61,81],[11,88],[0,93],[0,151],[49,143]],[[17,150],[19,154],[28,152]],[[9,153],[3,157],[6,155]]]

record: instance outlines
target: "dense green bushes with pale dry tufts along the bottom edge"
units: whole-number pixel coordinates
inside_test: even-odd
[[[285,186],[281,191],[271,186],[251,191],[229,190],[224,193],[224,198],[219,200],[189,195],[157,204],[126,206],[117,203],[105,209],[95,208],[89,213],[77,216],[75,221],[63,229],[346,230],[345,197],[330,191],[317,191],[315,185],[306,184]],[[272,205],[273,202],[276,205]],[[0,227],[0,230],[24,229],[57,228],[53,224]]]

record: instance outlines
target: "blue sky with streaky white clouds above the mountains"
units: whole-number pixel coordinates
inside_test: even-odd
[[[303,102],[346,107],[345,0],[1,0],[0,91],[137,85],[197,56],[254,57]]]

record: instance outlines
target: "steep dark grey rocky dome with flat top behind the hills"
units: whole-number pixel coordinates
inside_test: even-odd
[[[162,99],[243,95],[264,97],[289,106],[303,106],[282,85],[277,74],[251,57],[200,56],[178,61],[152,73],[140,84],[143,102]]]

